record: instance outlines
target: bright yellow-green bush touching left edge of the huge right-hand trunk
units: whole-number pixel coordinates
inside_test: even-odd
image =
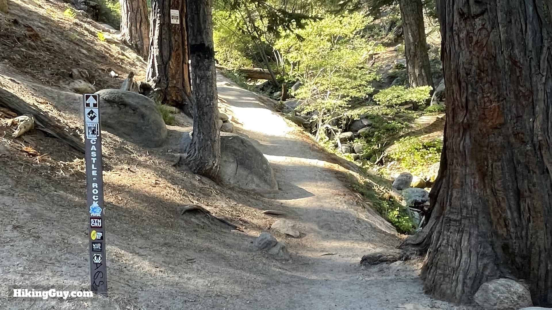
[[[404,137],[395,142],[389,157],[413,174],[440,161],[443,141],[422,142],[419,137]]]

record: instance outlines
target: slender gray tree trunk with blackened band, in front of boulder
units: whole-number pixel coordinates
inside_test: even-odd
[[[217,179],[220,133],[217,121],[215,50],[211,0],[188,0],[188,45],[192,60],[194,132],[187,165],[193,172]]]

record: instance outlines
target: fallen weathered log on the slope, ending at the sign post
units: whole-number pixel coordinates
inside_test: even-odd
[[[13,111],[18,115],[29,115],[33,117],[35,128],[52,135],[67,145],[84,153],[84,144],[77,137],[66,131],[66,126],[59,124],[55,119],[48,116],[38,106],[26,103],[16,95],[0,88],[0,106]]]

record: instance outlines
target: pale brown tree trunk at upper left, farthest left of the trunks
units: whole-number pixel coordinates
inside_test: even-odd
[[[146,0],[120,0],[121,39],[142,57],[150,52],[150,24]]]

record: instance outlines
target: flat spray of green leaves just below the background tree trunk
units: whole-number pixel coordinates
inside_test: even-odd
[[[380,105],[400,105],[404,103],[424,104],[429,99],[431,86],[406,88],[404,86],[391,86],[374,95],[374,100]]]

